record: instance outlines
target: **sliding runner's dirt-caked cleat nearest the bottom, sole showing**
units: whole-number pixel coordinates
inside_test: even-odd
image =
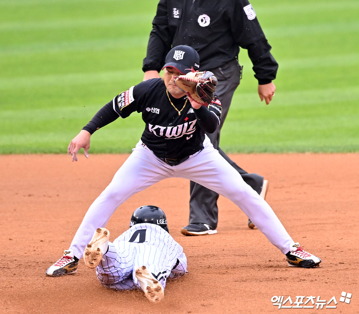
[[[154,303],[160,302],[164,297],[162,284],[151,274],[146,266],[136,269],[136,278],[146,298]]]

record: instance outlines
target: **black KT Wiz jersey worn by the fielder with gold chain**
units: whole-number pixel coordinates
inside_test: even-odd
[[[181,111],[180,115],[168,97]],[[187,96],[173,98],[169,93],[167,96],[163,80],[151,79],[116,96],[113,99],[113,109],[122,118],[135,111],[142,113],[142,119],[146,123],[141,136],[142,142],[159,158],[181,159],[200,151],[205,135],[189,100],[181,110],[186,99]],[[216,115],[219,124],[222,113],[219,100],[209,104],[208,110]]]

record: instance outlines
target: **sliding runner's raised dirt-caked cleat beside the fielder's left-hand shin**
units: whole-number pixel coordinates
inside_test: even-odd
[[[108,249],[110,233],[106,228],[97,228],[92,239],[84,250],[84,262],[87,267],[95,268],[102,260]]]

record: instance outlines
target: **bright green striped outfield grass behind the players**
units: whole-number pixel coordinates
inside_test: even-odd
[[[0,0],[0,154],[65,153],[116,94],[143,78],[158,0]],[[279,63],[260,102],[247,51],[221,135],[234,152],[359,151],[358,0],[251,1]],[[92,136],[90,153],[129,153],[139,114]]]

